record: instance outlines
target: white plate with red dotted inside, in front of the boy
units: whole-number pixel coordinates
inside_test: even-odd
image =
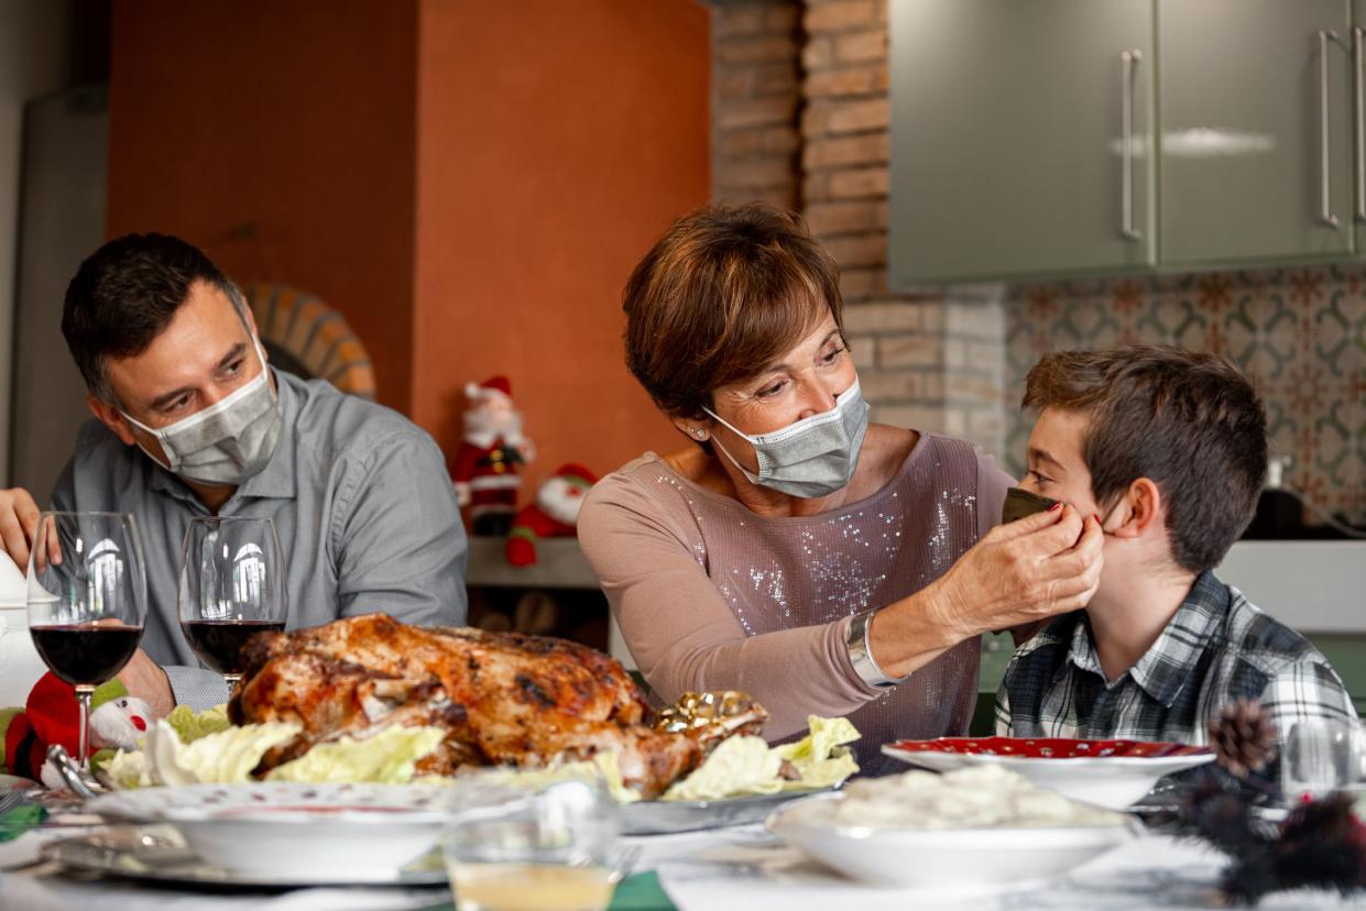
[[[956,740],[967,740],[958,738]],[[984,739],[999,740],[999,738]],[[1020,739],[1022,744],[1031,740]],[[1098,743],[1098,742],[1076,742]],[[1112,742],[1120,743],[1120,742]],[[1214,761],[1213,753],[1187,755],[1076,755],[1038,757],[1005,753],[952,753],[903,750],[895,743],[882,753],[902,762],[933,772],[952,772],[978,765],[999,765],[1029,779],[1041,788],[1086,803],[1123,810],[1153,789],[1157,780],[1173,772],[1183,772]]]

